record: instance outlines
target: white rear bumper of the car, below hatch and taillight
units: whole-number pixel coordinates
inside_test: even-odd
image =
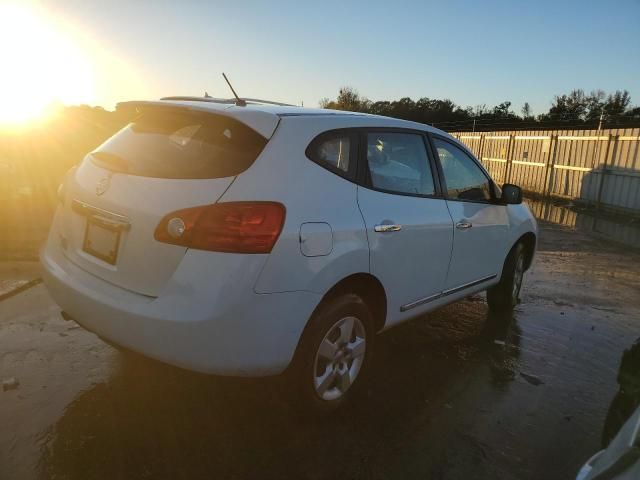
[[[212,275],[221,266],[216,255],[229,254],[199,251],[188,252],[159,297],[146,297],[78,268],[57,243],[50,239],[40,257],[44,282],[64,311],[110,342],[189,370],[281,373],[320,301],[310,292],[257,294],[251,265]]]

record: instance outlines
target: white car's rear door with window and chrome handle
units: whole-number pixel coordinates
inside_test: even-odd
[[[453,222],[442,198],[427,138],[414,131],[366,130],[358,205],[370,270],[387,293],[387,325],[444,288]]]

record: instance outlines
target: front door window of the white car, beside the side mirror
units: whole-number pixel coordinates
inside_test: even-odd
[[[491,200],[489,179],[466,152],[438,138],[433,143],[442,165],[449,199]]]

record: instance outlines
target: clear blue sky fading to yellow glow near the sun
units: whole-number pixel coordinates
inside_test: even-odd
[[[118,101],[205,91],[228,97],[224,71],[241,96],[305,106],[335,98],[346,85],[374,101],[509,100],[516,111],[529,102],[535,114],[574,88],[628,89],[640,105],[640,0],[22,5],[54,25],[75,52],[73,74],[58,79],[67,86],[64,103],[113,108]],[[55,58],[45,43],[38,61]],[[39,84],[48,72],[65,71],[67,60],[45,65]],[[83,64],[90,88],[79,80]]]

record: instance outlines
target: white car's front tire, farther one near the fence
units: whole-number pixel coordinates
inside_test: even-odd
[[[524,277],[525,250],[522,243],[517,243],[507,255],[502,268],[500,283],[487,290],[487,303],[494,311],[512,310],[520,303],[520,289]]]

